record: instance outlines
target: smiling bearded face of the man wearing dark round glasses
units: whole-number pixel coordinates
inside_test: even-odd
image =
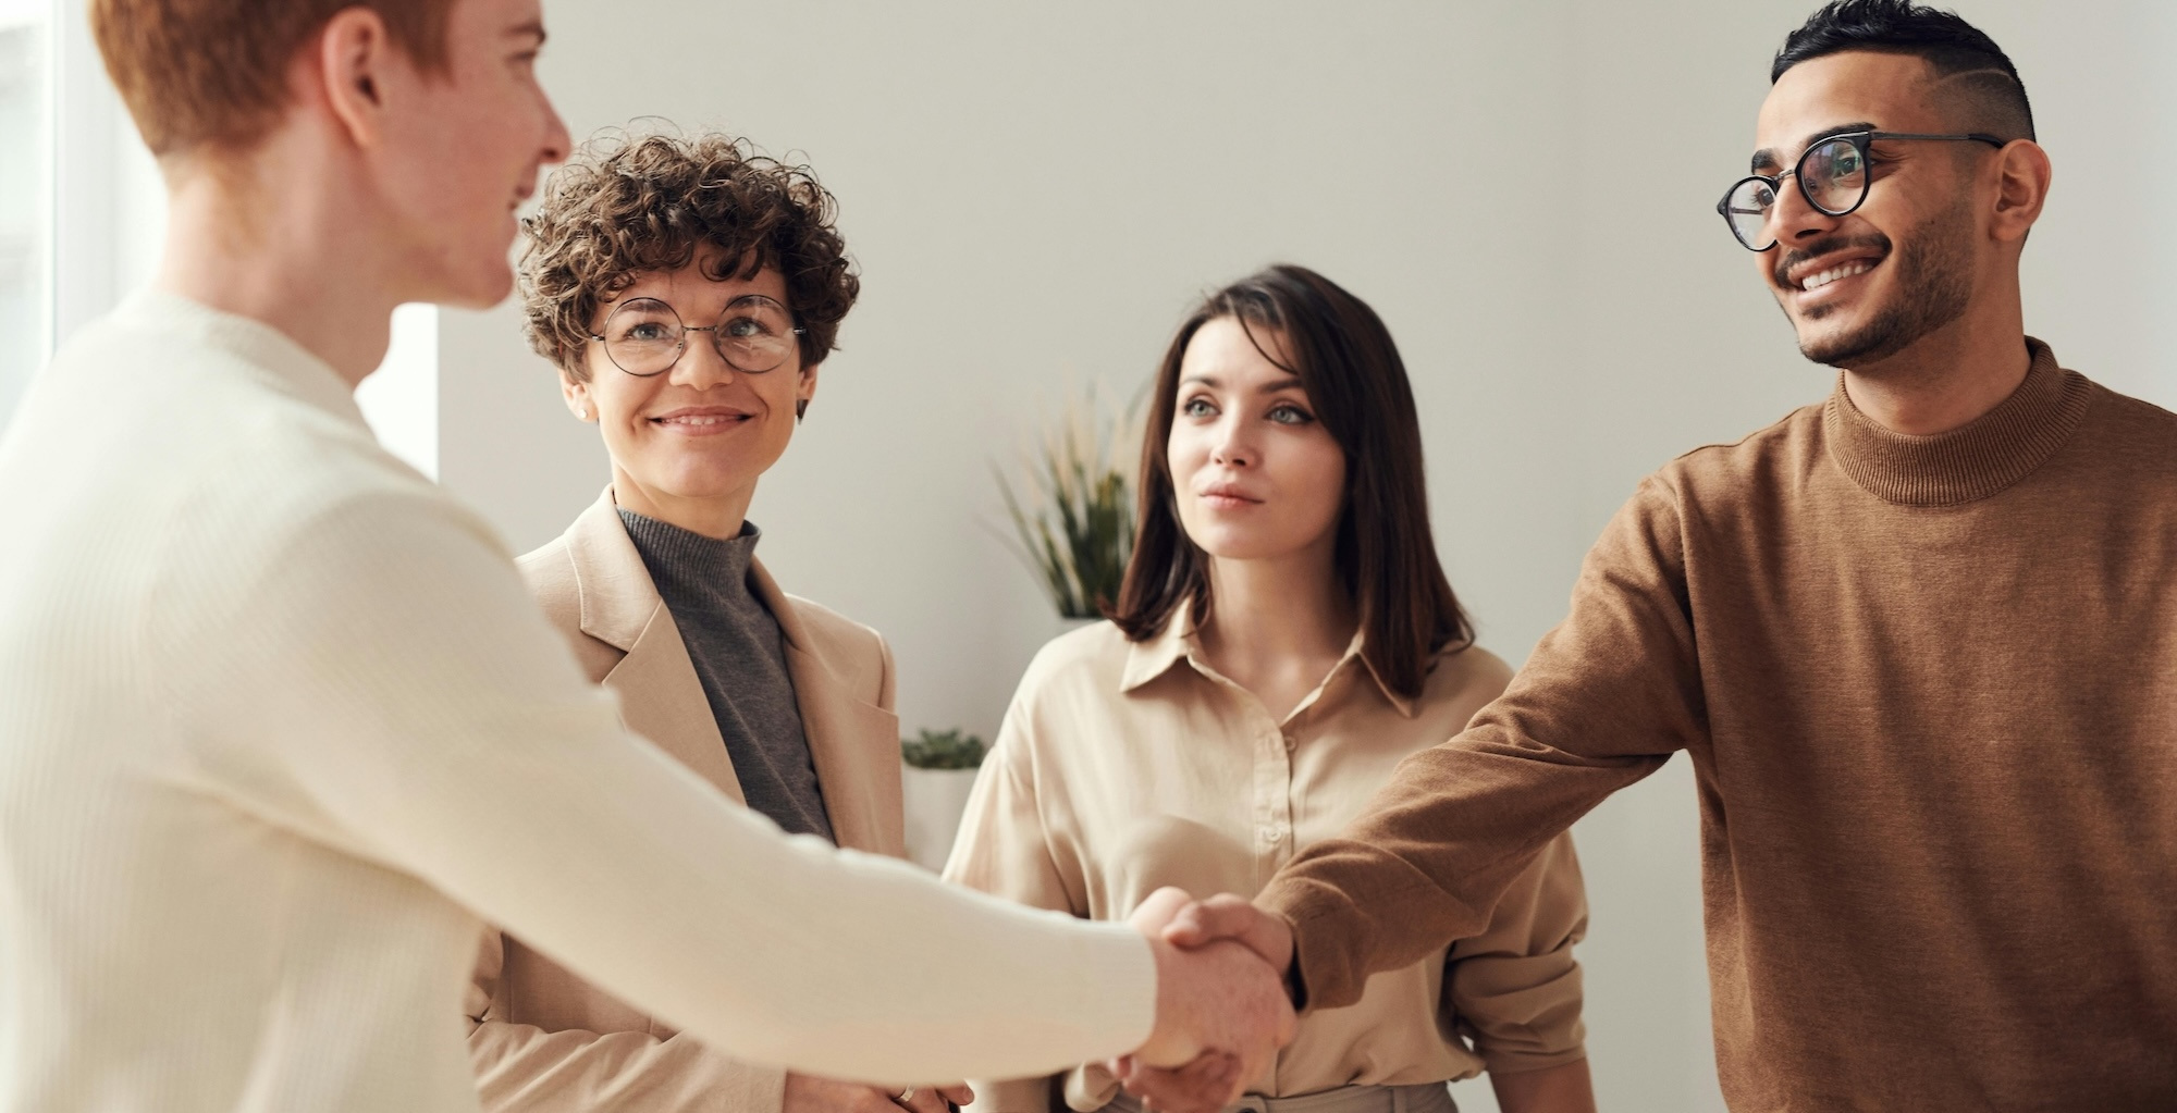
[[[1785,70],[1761,102],[1755,174],[1785,174],[1818,139],[1844,130],[1972,130],[1929,96],[1931,70],[1909,54],[1850,50]],[[1807,204],[1785,178],[1761,280],[1798,330],[1800,352],[1837,367],[1879,363],[1966,313],[1981,222],[1985,146],[1877,141],[1866,202],[1842,217]],[[1809,289],[1811,287],[1811,289]]]

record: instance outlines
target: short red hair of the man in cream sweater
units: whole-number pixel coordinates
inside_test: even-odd
[[[455,0],[91,0],[91,37],[157,157],[255,146],[287,109],[287,63],[364,7],[427,72],[446,67]]]

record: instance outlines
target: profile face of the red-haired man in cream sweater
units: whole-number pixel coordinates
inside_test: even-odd
[[[570,146],[536,78],[542,46],[538,0],[457,0],[448,72],[403,83],[414,100],[390,113],[385,180],[418,300],[481,309],[514,289],[514,211]]]

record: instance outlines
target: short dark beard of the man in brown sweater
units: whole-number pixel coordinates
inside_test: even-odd
[[[1840,248],[1879,248],[1883,250],[1883,259],[1896,267],[1896,293],[1887,304],[1874,307],[1866,324],[1848,333],[1813,339],[1805,330],[1798,330],[1798,354],[1829,367],[1881,363],[1911,348],[1920,337],[1964,317],[1966,307],[1972,302],[1970,243],[1972,207],[1961,196],[1951,211],[1920,222],[1898,250],[1890,250],[1887,235],[1874,233],[1866,237],[1824,239],[1779,259],[1776,285],[1785,285],[1783,274],[1792,265]],[[1833,311],[1816,309],[1807,313],[1807,322],[1818,322]],[[1798,326],[1798,322],[1792,324],[1794,328]]]

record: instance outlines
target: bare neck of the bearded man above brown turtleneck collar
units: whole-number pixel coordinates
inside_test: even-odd
[[[1848,367],[1844,393],[1874,424],[1911,437],[1959,428],[2003,404],[2033,363],[2016,307],[1951,322],[1903,352]]]

